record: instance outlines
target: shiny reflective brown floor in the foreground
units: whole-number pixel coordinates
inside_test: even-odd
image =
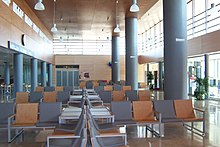
[[[161,93],[156,96],[162,97]],[[195,107],[206,110],[206,136],[200,137],[186,130],[182,124],[165,124],[164,137],[152,137],[145,127],[127,127],[130,147],[220,147],[220,101],[194,101]],[[201,125],[195,124],[198,128]],[[0,147],[41,147],[52,131],[27,130],[24,135],[8,144],[6,132],[0,131]]]

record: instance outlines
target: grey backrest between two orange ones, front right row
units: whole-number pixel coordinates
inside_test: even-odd
[[[173,100],[155,100],[154,109],[162,114],[162,119],[176,118]]]

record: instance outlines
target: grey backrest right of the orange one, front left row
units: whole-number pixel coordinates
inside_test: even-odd
[[[58,122],[62,110],[62,103],[40,103],[39,122]]]

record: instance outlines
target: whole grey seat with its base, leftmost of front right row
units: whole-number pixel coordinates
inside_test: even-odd
[[[136,124],[132,120],[132,106],[130,101],[111,102],[111,111],[115,115],[117,125]]]

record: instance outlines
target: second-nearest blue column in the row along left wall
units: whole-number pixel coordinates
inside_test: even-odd
[[[38,69],[38,61],[37,59],[33,58],[31,59],[31,91],[35,91],[35,88],[37,87],[38,83],[38,76],[37,71]]]

